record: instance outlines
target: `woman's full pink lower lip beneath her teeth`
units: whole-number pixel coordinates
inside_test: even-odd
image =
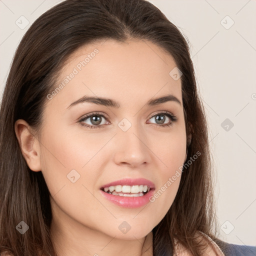
[[[121,195],[109,194],[100,189],[101,194],[106,199],[108,199],[112,203],[115,203],[125,208],[138,208],[147,204],[149,202],[150,196],[153,195],[153,191],[154,189],[150,189],[146,194],[141,196],[121,196]]]

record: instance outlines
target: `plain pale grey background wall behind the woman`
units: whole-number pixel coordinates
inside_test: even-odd
[[[57,2],[0,0],[1,94],[21,37],[40,14]],[[256,245],[256,1],[150,2],[190,41],[209,122],[220,238]],[[25,18],[20,18],[22,15]],[[26,19],[29,24],[23,28]]]

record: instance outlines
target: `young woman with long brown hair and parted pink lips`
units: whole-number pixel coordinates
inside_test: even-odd
[[[217,239],[188,45],[149,2],[42,14],[0,118],[1,255],[253,255]]]

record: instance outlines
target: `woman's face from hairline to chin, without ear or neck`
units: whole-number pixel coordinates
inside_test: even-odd
[[[47,95],[38,137],[41,171],[60,229],[134,239],[164,217],[186,158],[178,76],[173,58],[144,40],[89,44],[68,59]],[[167,95],[171,100],[152,101]],[[104,100],[83,101],[85,96]],[[104,192],[112,182],[111,189],[124,193],[134,185],[138,196]],[[150,186],[148,194],[140,196],[139,185]]]

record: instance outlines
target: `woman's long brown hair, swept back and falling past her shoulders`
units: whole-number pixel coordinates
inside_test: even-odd
[[[0,108],[0,252],[14,256],[56,255],[50,239],[49,191],[42,173],[29,169],[14,131],[24,119],[39,130],[46,95],[63,63],[82,45],[103,39],[149,40],[171,54],[182,71],[181,88],[187,142],[186,163],[176,197],[153,228],[153,255],[172,255],[174,238],[200,255],[201,231],[216,239],[207,123],[196,89],[188,41],[166,16],[145,0],[65,0],[29,27],[15,52]],[[24,234],[15,226],[24,221]],[[214,224],[214,225],[213,225]],[[215,231],[213,232],[213,227]]]

